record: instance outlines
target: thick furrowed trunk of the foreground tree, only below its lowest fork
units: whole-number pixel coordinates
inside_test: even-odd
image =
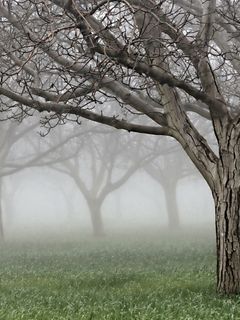
[[[217,291],[240,292],[240,189],[234,181],[226,182],[214,194],[217,242]],[[230,186],[231,184],[231,186]],[[237,183],[239,185],[239,182]]]

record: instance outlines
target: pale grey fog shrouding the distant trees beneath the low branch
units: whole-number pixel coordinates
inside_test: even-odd
[[[27,127],[13,129],[21,132],[21,126]],[[44,137],[31,129],[10,146],[1,169],[6,241],[214,228],[210,189],[172,140],[103,134],[89,126],[72,135],[71,128],[76,130],[63,127],[61,135],[53,130]],[[160,180],[149,174],[151,166]],[[9,168],[14,170],[6,174]],[[175,183],[175,191],[167,191],[177,204],[175,226],[169,225],[164,179]],[[98,198],[100,231],[91,215],[91,201]]]

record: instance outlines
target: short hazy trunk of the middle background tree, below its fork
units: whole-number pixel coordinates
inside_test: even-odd
[[[101,213],[101,203],[98,201],[88,201],[88,207],[91,215],[93,235],[96,237],[104,236],[104,226]]]

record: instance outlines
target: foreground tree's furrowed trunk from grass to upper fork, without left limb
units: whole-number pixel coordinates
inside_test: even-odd
[[[234,132],[232,130],[232,132]],[[213,190],[216,210],[217,290],[240,292],[240,146],[228,136],[220,148],[218,180]]]

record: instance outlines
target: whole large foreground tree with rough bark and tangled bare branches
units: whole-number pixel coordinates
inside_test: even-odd
[[[0,15],[2,111],[175,138],[215,201],[217,290],[239,293],[239,3],[5,0]],[[188,111],[209,121],[217,152]]]

